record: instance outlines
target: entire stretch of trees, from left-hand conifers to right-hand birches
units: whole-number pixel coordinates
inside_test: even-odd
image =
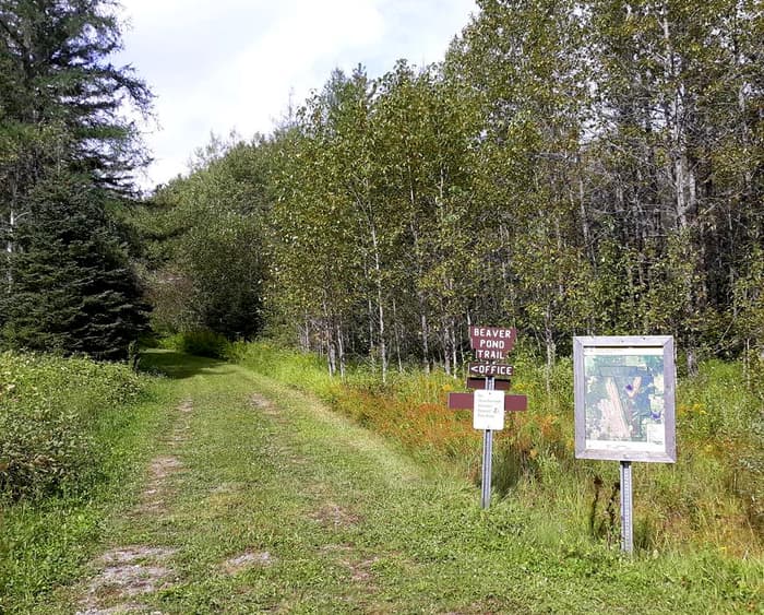
[[[454,372],[491,324],[550,368],[575,334],[760,362],[761,3],[478,7],[442,62],[335,70],[140,194],[152,93],[110,3],[3,2],[2,346],[265,335],[385,379]]]

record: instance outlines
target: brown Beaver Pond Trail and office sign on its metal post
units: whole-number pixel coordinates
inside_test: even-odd
[[[467,368],[467,388],[473,393],[449,393],[449,407],[471,410],[473,427],[482,429],[482,474],[480,480],[480,506],[491,505],[491,476],[493,460],[493,431],[504,428],[504,413],[527,410],[525,395],[509,395],[509,378],[514,374],[511,365],[498,364],[514,346],[517,332],[496,327],[470,327],[469,342],[475,358]],[[497,385],[499,383],[499,385]]]

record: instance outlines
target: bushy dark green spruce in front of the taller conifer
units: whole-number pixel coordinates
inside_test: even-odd
[[[118,359],[145,331],[142,289],[103,200],[98,189],[67,176],[31,192],[0,296],[7,347]]]

